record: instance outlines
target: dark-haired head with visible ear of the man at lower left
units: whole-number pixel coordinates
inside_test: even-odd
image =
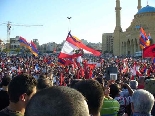
[[[34,77],[25,74],[14,77],[8,87],[10,102],[24,102],[27,104],[33,94],[36,93],[37,81]]]

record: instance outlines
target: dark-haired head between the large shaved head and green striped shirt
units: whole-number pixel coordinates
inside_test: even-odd
[[[98,115],[101,110],[104,97],[101,84],[96,80],[82,80],[76,83],[74,88],[81,92],[87,99],[90,114]]]

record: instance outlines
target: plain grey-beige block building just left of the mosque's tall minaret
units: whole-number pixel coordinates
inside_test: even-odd
[[[102,34],[102,53],[112,53],[113,52],[113,33]]]

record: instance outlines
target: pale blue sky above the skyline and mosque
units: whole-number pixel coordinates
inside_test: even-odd
[[[121,27],[125,31],[138,12],[138,0],[120,1]],[[155,0],[141,1],[142,7],[147,1],[155,7]],[[61,43],[71,30],[79,39],[102,42],[102,34],[115,29],[115,6],[116,0],[0,0],[0,39],[7,39],[7,26],[3,23],[10,21],[11,38],[22,36],[28,41],[38,39],[40,44]]]

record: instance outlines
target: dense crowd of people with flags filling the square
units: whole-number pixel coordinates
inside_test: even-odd
[[[0,116],[155,116],[151,59],[1,56],[0,82]]]

